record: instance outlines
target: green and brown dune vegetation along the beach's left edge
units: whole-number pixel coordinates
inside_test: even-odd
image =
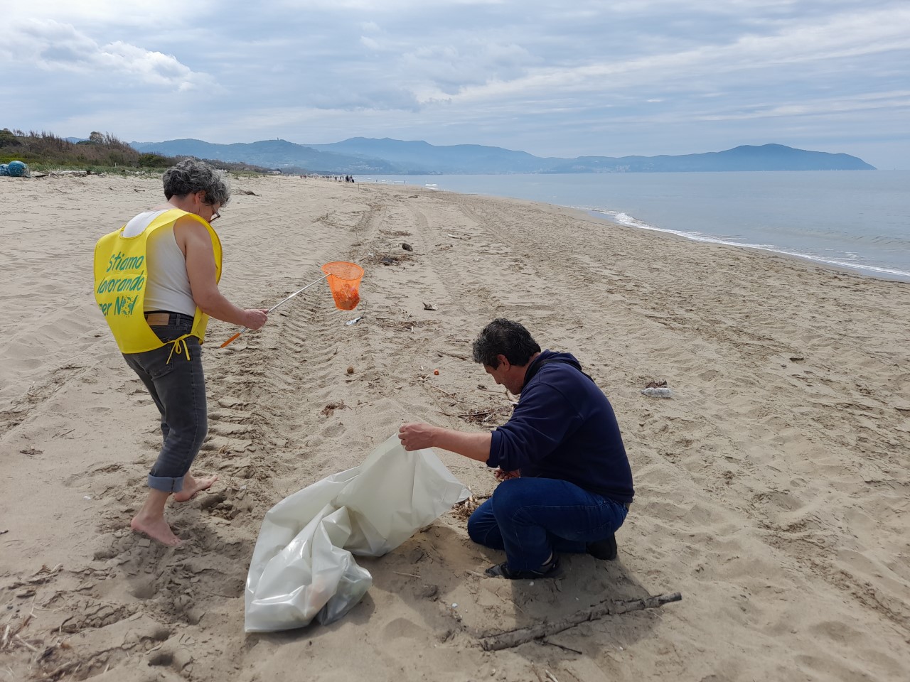
[[[72,143],[52,133],[24,133],[21,130],[0,130],[0,164],[23,161],[33,172],[55,170],[84,170],[89,173],[161,173],[182,156],[142,154],[121,142],[114,135],[93,132],[87,140]],[[269,173],[256,165],[209,160],[208,163],[232,173]]]

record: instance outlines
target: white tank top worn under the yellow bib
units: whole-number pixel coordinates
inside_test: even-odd
[[[166,209],[169,210],[169,209]],[[141,235],[164,211],[146,211],[126,223],[123,236]],[[152,233],[146,245],[148,275],[145,312],[167,310],[196,315],[196,302],[189,287],[187,257],[177,246],[174,226],[161,227]]]

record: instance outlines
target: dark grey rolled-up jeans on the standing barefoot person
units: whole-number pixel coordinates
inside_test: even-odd
[[[152,331],[162,341],[173,341],[188,334],[192,327],[192,317],[171,313],[167,326],[153,326]],[[148,486],[170,493],[183,489],[184,476],[208,432],[202,348],[196,336],[187,336],[186,341],[188,360],[185,353],[175,350],[171,354],[173,344],[146,353],[124,354],[126,364],[133,368],[146,385],[161,413],[164,443],[155,466],[152,466],[148,475]],[[167,361],[168,357],[170,362]]]

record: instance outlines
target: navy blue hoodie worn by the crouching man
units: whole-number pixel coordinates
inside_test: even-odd
[[[632,502],[632,469],[613,408],[571,353],[545,350],[534,358],[518,405],[492,436],[487,466]]]

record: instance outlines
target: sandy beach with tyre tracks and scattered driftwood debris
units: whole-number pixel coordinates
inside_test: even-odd
[[[2,179],[0,682],[907,678],[910,284],[525,201],[235,180],[216,225],[232,301],[271,306],[333,260],[366,276],[354,312],[320,284],[227,348],[236,327],[209,325],[194,473],[220,479],[168,506],[187,539],[169,549],[128,528],[157,410],[91,272],[96,239],[160,203],[160,179]],[[357,466],[402,420],[508,418],[509,397],[470,361],[497,316],[573,353],[610,397],[636,487],[619,559],[564,557],[558,580],[483,577],[501,555],[446,514],[359,559],[373,586],[348,616],[245,635],[268,508]],[[671,399],[642,396],[664,380]],[[438,454],[474,496],[496,486]],[[485,633],[674,592],[682,601],[480,647]]]

